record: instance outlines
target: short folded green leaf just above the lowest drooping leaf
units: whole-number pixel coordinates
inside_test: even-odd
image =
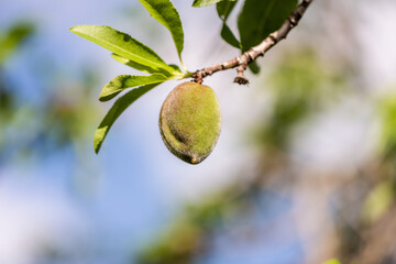
[[[162,74],[153,74],[150,76],[120,75],[103,87],[99,100],[108,101],[127,88],[163,82],[167,79],[169,78]]]

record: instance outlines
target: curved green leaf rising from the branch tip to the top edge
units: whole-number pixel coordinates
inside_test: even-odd
[[[182,62],[184,32],[180,16],[169,0],[139,0],[150,14],[162,23],[172,34]]]

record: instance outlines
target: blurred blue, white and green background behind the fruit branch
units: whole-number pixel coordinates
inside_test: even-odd
[[[213,7],[173,2],[189,70],[238,54]],[[94,153],[112,105],[101,88],[136,73],[68,29],[108,24],[177,63],[139,1],[0,3],[1,264],[396,263],[395,1],[315,1],[250,86],[234,70],[206,78],[222,132],[198,166],[161,140],[176,81],[133,103]]]

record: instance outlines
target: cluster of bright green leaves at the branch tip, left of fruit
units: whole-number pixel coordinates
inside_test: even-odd
[[[169,0],[140,0],[140,2],[155,20],[170,32],[183,66],[184,32],[175,7]],[[99,96],[100,101],[111,100],[125,89],[135,89],[120,97],[99,124],[94,136],[96,153],[99,152],[111,125],[132,102],[166,80],[190,76],[189,73],[183,73],[178,66],[165,63],[151,47],[110,26],[76,25],[70,31],[112,52],[112,57],[119,63],[148,74],[142,76],[120,75],[105,85]]]

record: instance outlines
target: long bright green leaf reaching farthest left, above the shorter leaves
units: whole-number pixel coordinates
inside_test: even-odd
[[[132,62],[152,67],[155,70],[174,72],[153,50],[110,26],[76,25],[70,31]]]

